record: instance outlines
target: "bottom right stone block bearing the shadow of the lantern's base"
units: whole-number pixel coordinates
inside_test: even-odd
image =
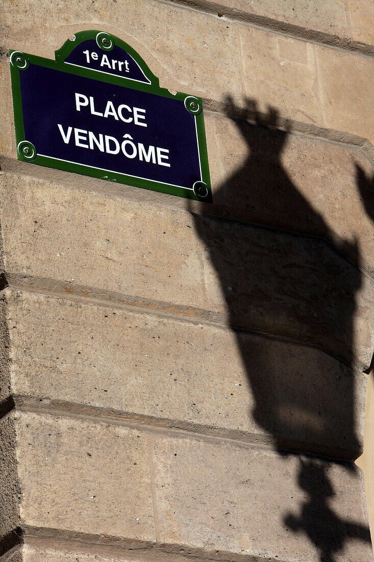
[[[270,560],[372,560],[359,469],[168,438],[154,443],[154,470],[161,541]]]

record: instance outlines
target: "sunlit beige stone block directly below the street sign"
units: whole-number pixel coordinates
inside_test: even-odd
[[[129,205],[121,197],[50,182],[8,179],[10,200],[7,196],[2,220],[10,235],[8,271],[61,279],[72,284],[67,291],[84,284],[206,307],[201,244],[187,213]],[[26,182],[27,195],[15,189],[14,180]]]

